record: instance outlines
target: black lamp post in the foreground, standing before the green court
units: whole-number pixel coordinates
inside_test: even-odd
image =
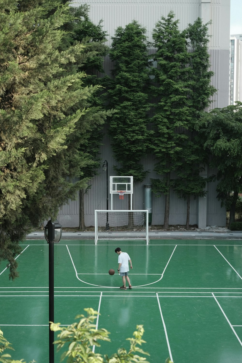
[[[49,321],[54,322],[54,243],[59,243],[62,225],[56,220],[49,220],[45,226],[45,239],[49,244]],[[54,363],[54,332],[49,323],[49,363]]]

